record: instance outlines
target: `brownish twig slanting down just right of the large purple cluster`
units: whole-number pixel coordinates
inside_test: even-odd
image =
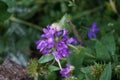
[[[78,31],[76,30],[75,26],[72,24],[72,22],[70,20],[67,20],[67,23],[69,24],[70,28],[72,29],[78,42],[81,43],[82,42],[81,37],[79,36]]]

